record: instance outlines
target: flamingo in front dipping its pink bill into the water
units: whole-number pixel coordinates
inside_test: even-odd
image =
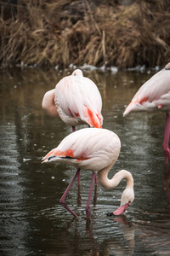
[[[110,172],[111,167],[115,164],[120,149],[121,142],[116,133],[106,129],[83,128],[65,137],[57,148],[52,149],[43,157],[42,163],[63,163],[77,167],[75,176],[72,178],[64,195],[59,200],[61,205],[71,212],[74,217],[77,217],[77,214],[67,206],[65,197],[81,169],[93,173],[86,205],[87,218],[90,218],[89,204],[96,173],[98,173],[99,183],[106,189],[115,188],[123,178],[127,180],[126,189],[122,192],[121,206],[118,207],[115,212],[109,213],[109,215],[123,214],[127,210],[127,207],[133,202],[133,176],[130,172],[122,170],[117,172],[111,179],[108,178],[108,172]]]

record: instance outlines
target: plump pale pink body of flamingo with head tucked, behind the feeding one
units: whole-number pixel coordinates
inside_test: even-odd
[[[88,124],[101,128],[102,100],[91,79],[85,78],[80,69],[61,79],[54,90],[48,90],[42,99],[42,108],[52,117],[60,117],[75,131],[76,125]]]

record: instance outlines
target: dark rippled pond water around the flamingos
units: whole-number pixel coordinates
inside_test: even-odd
[[[81,172],[66,201],[79,218],[59,205],[75,168],[42,165],[71,128],[43,113],[42,96],[65,76],[54,70],[13,69],[0,74],[0,254],[170,255],[169,166],[161,144],[165,113],[130,113],[125,105],[152,73],[84,72],[99,86],[104,127],[121,138],[122,150],[109,177],[133,174],[135,200],[122,217],[107,217],[120,204],[122,183],[99,183],[86,219],[91,172]]]

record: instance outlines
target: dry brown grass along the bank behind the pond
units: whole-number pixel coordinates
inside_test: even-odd
[[[155,67],[170,60],[168,0],[20,0],[17,15],[5,9],[1,3],[1,67]]]

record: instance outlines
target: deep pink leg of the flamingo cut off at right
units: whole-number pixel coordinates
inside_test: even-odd
[[[169,147],[168,147],[169,135],[170,135],[170,114],[167,113],[164,139],[163,139],[163,145],[162,145],[166,163],[168,162],[168,159],[170,160],[170,152],[169,152]]]

